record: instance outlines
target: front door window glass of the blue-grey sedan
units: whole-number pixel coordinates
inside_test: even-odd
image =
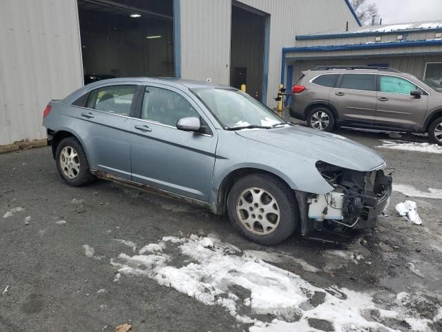
[[[182,95],[171,90],[146,86],[141,118],[176,127],[181,118],[196,117],[200,114]]]

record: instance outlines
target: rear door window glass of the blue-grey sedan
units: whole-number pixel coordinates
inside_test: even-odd
[[[87,107],[129,116],[136,91],[135,85],[113,85],[95,89],[89,93]]]

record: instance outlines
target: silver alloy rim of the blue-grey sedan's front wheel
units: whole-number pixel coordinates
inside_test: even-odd
[[[236,214],[246,230],[256,235],[268,235],[278,228],[280,209],[267,190],[251,187],[244,190],[236,202]]]

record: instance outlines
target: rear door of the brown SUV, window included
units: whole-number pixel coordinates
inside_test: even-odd
[[[376,113],[376,75],[344,73],[329,95],[340,120],[373,123]]]

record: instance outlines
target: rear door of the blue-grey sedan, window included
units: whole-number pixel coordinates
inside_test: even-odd
[[[136,84],[100,86],[88,93],[77,112],[81,136],[91,169],[131,179],[130,129],[135,113]]]

